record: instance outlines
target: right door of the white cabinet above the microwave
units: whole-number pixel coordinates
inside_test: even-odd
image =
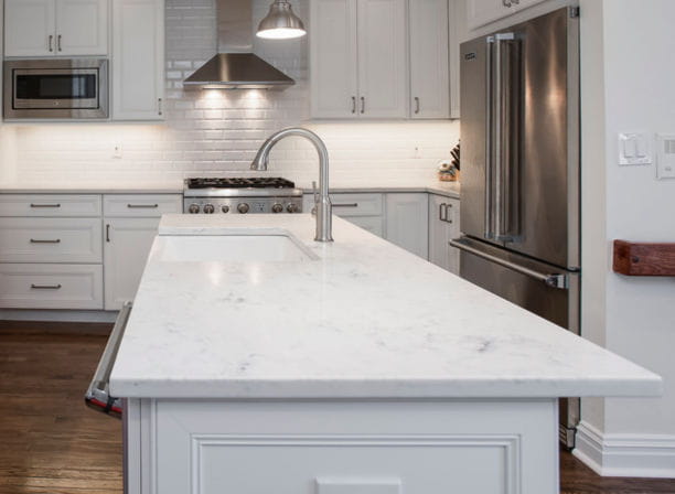
[[[108,0],[56,0],[56,53],[108,53]]]

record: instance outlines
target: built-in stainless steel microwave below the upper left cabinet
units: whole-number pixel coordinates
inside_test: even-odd
[[[4,118],[107,117],[106,58],[4,62]]]

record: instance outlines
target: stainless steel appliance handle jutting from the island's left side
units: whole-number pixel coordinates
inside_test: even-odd
[[[98,362],[92,383],[85,393],[85,404],[88,407],[117,418],[121,418],[122,405],[121,398],[110,396],[110,372],[113,370],[113,365],[115,365],[117,351],[129,321],[131,307],[131,302],[125,302],[119,311],[106,348]]]

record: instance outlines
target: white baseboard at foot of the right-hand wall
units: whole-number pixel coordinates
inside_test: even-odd
[[[675,436],[606,434],[581,421],[572,454],[602,476],[675,479]]]

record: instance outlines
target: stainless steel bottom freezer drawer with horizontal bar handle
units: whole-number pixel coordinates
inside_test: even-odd
[[[462,237],[460,275],[548,321],[579,334],[579,273]]]

